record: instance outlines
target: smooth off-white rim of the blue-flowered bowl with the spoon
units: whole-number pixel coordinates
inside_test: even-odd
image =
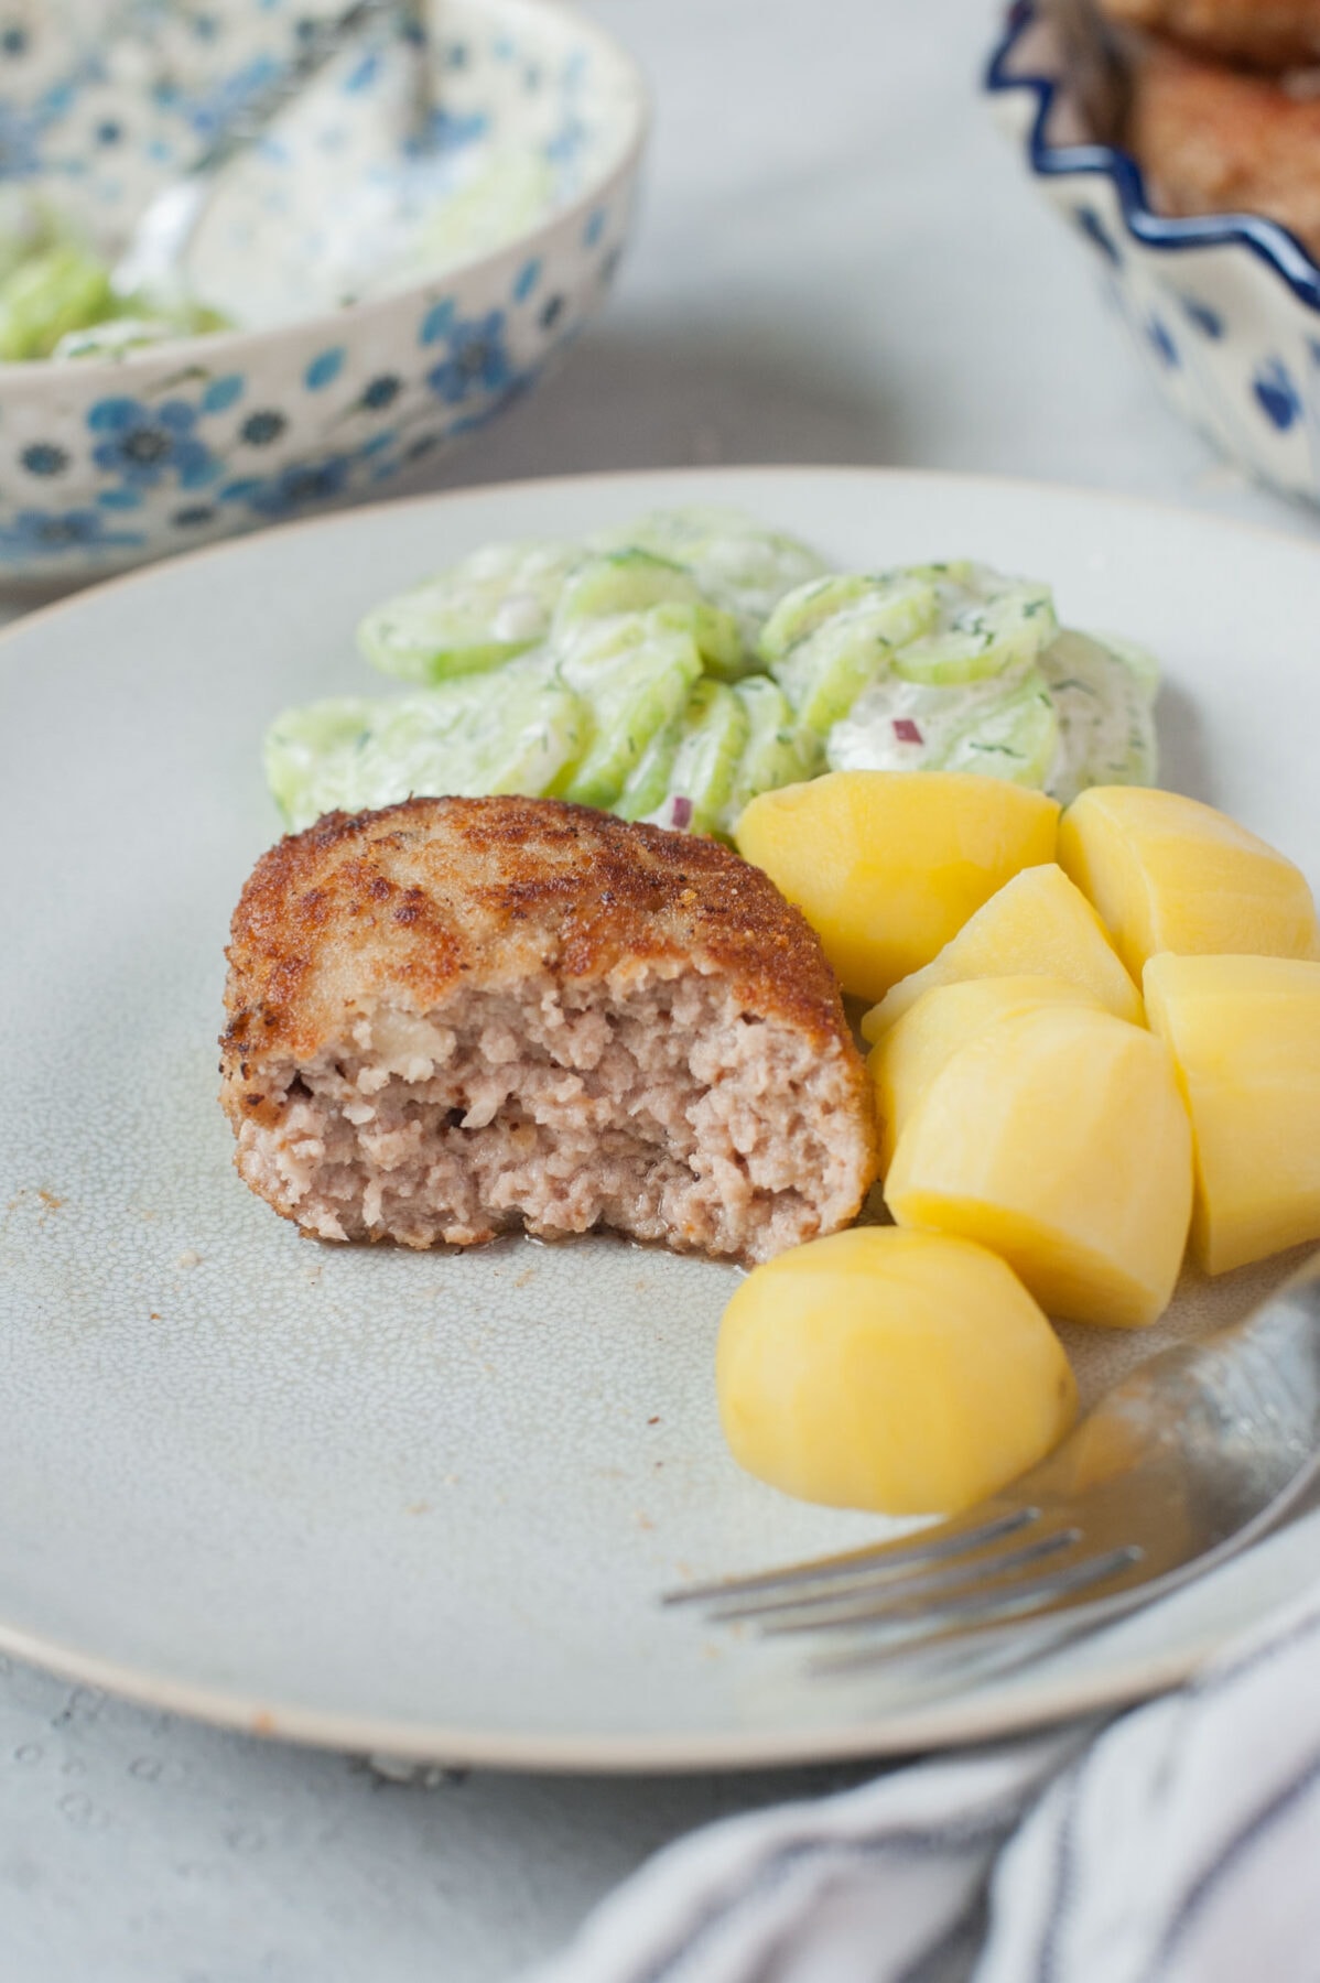
[[[157,343],[123,351],[119,357],[67,359],[61,363],[48,357],[10,359],[0,363],[0,391],[4,391],[10,381],[16,385],[30,385],[34,379],[57,377],[67,381],[73,377],[87,379],[97,397],[103,397],[107,381],[129,379],[133,373],[141,373],[157,361],[165,361],[165,365],[174,371],[180,363],[188,363],[192,353],[204,353],[206,357],[212,353],[216,357],[228,357],[230,353],[238,355],[258,343],[270,343],[274,337],[315,331],[317,327],[321,327],[325,335],[331,335],[331,327],[335,325],[365,323],[373,315],[385,315],[400,303],[416,307],[440,284],[456,284],[472,276],[474,270],[495,268],[503,258],[525,256],[529,248],[535,242],[545,240],[553,228],[585,218],[610,186],[620,180],[628,180],[638,169],[652,127],[652,95],[646,77],[642,75],[636,58],[622,46],[622,42],[618,42],[599,22],[579,12],[575,0],[480,0],[480,8],[488,10],[494,18],[547,18],[555,28],[569,30],[585,42],[595,42],[597,50],[603,52],[620,71],[620,81],[624,85],[620,89],[620,101],[624,103],[628,117],[626,137],[614,159],[599,169],[583,190],[571,200],[565,200],[563,206],[553,206],[541,220],[535,222],[535,226],[525,228],[521,234],[513,234],[501,246],[466,256],[462,262],[452,262],[438,274],[418,276],[416,282],[400,284],[398,290],[388,290],[385,295],[367,295],[355,303],[341,303],[337,309],[317,309],[305,317],[289,317],[287,323],[268,323],[260,327],[234,325],[232,329],[222,331],[192,331],[182,337],[161,337]],[[345,331],[345,335],[351,333]]]

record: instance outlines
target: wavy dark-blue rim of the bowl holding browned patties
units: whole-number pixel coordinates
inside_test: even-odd
[[[1150,206],[1146,180],[1132,153],[1116,145],[1098,143],[1050,145],[1045,131],[1060,77],[1056,73],[1043,73],[1041,69],[1013,71],[1019,46],[1039,18],[1039,0],[1015,0],[983,73],[987,95],[1025,91],[1037,97],[1025,145],[1031,171],[1041,178],[1100,175],[1114,186],[1128,234],[1142,248],[1171,252],[1185,248],[1249,248],[1259,262],[1282,278],[1300,303],[1312,311],[1320,311],[1320,262],[1278,220],[1265,220],[1261,214],[1169,218]]]

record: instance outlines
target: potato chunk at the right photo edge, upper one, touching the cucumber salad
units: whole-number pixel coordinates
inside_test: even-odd
[[[1300,869],[1199,799],[1092,785],[1058,825],[1058,861],[1138,980],[1159,950],[1320,958],[1316,904]]]

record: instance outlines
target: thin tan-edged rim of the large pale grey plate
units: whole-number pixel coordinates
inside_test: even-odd
[[[773,476],[797,482],[856,478],[896,490],[904,484],[949,490],[1015,490],[1027,496],[1080,500],[1104,504],[1128,516],[1157,516],[1181,520],[1211,531],[1263,539],[1296,551],[1314,551],[1306,531],[1280,525],[1241,522],[1189,504],[1134,496],[1122,490],[1088,488],[1084,484],[1052,482],[1029,476],[993,472],[959,472],[937,468],[890,468],[864,462],[745,462],[717,466],[666,466],[583,470],[551,476],[523,476],[503,482],[462,484],[446,490],[422,490],[410,496],[383,498],[373,504],[353,504],[343,510],[295,518],[238,539],[198,545],[168,559],[135,567],[133,571],[81,585],[69,595],[50,601],[0,629],[0,670],[8,650],[34,629],[59,623],[61,617],[95,609],[105,593],[151,587],[174,569],[186,573],[202,561],[244,559],[262,555],[272,541],[291,533],[335,531],[375,524],[394,512],[444,512],[470,504],[474,498],[497,502],[501,496],[537,494],[553,502],[557,490],[593,486],[608,496],[640,484],[668,482],[719,484],[733,478]],[[363,1715],[345,1709],[303,1707],[291,1701],[262,1699],[242,1688],[204,1686],[178,1680],[166,1672],[119,1662],[101,1654],[50,1638],[26,1626],[0,1618],[0,1652],[44,1668],[73,1684],[105,1690],[141,1707],[180,1713],[212,1727],[224,1727],[270,1741],[319,1747],[347,1753],[388,1755],[416,1765],[484,1767],[511,1773],[587,1773],[587,1775],[682,1775],[704,1769],[751,1771],[805,1767],[811,1763],[842,1763],[866,1757],[908,1755],[922,1749],[945,1749],[969,1743],[991,1743],[1066,1719],[1112,1713],[1136,1701],[1150,1699],[1179,1686],[1189,1674],[1223,1646],[1223,1634],[1193,1632],[1179,1648],[1118,1658],[1106,1672],[1084,1670],[1076,1676],[1048,1676],[1043,1686],[1005,1695],[981,1695],[975,1690],[947,1695],[904,1709],[880,1709],[874,1715],[840,1721],[832,1727],[765,1727],[725,1731],[664,1731],[656,1735],[547,1735],[456,1727],[430,1721],[398,1721],[388,1715]]]

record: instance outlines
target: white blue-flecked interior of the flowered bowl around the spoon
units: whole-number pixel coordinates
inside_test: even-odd
[[[36,194],[113,254],[339,12],[18,0],[0,22],[0,208]],[[260,327],[386,293],[535,230],[618,165],[636,75],[589,22],[527,0],[432,16],[424,141],[408,141],[414,52],[377,24],[226,171],[190,256],[206,301]]]

